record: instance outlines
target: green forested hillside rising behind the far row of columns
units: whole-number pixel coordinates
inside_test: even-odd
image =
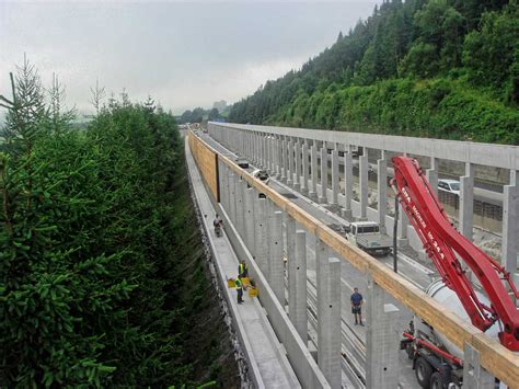
[[[391,0],[229,121],[519,144],[517,0]]]

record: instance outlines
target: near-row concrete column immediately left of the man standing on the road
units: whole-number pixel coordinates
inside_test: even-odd
[[[332,388],[341,388],[341,262],[316,239],[318,365]],[[397,347],[396,347],[397,348]]]

